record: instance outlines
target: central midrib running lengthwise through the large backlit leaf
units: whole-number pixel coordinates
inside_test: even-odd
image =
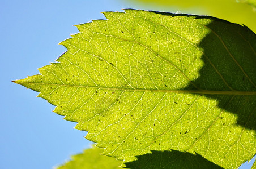
[[[15,81],[14,81],[15,82]],[[19,82],[16,82],[19,83]],[[32,84],[44,84],[53,86],[64,87],[82,87],[82,88],[95,88],[98,90],[114,90],[114,91],[133,91],[133,92],[165,92],[176,94],[203,94],[203,95],[256,95],[256,91],[213,91],[213,90],[163,90],[163,89],[143,89],[143,88],[118,88],[118,87],[100,87],[100,86],[78,86],[71,84],[52,84],[52,83],[35,83],[35,82],[22,82]]]

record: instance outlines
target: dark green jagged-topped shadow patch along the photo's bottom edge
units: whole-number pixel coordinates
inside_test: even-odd
[[[126,168],[222,168],[199,154],[151,150],[152,154],[137,156],[137,160],[125,163]]]

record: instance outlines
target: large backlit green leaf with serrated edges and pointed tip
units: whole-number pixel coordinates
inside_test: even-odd
[[[251,159],[255,33],[210,16],[125,12],[77,25],[57,63],[15,83],[126,163],[152,150],[200,154],[223,168]]]

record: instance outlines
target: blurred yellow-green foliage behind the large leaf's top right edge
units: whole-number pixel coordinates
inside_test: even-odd
[[[127,1],[127,0],[126,0]],[[159,6],[161,8],[176,8],[182,13],[187,11],[193,14],[210,15],[231,21],[232,23],[244,24],[256,32],[256,10],[255,0],[129,0],[133,3],[142,3],[143,6]],[[249,5],[248,5],[249,4]]]

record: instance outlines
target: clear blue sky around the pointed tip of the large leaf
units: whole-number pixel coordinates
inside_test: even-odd
[[[52,168],[89,148],[91,143],[83,137],[86,132],[73,129],[75,123],[53,113],[54,106],[37,98],[37,92],[11,80],[38,74],[37,68],[65,52],[65,47],[57,44],[78,32],[72,25],[104,19],[100,12],[122,8],[181,10],[125,0],[1,0],[0,168]],[[182,12],[202,14],[195,9]]]

